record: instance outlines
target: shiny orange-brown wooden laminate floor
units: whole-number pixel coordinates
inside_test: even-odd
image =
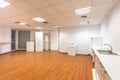
[[[0,80],[93,80],[89,56],[57,51],[14,51],[0,55]]]

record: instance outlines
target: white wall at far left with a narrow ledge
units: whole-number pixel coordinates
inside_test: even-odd
[[[11,29],[0,27],[0,54],[11,51]]]

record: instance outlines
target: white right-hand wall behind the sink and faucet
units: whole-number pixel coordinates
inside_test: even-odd
[[[120,1],[111,10],[107,18],[101,24],[101,35],[104,43],[113,46],[114,51],[120,52]]]

